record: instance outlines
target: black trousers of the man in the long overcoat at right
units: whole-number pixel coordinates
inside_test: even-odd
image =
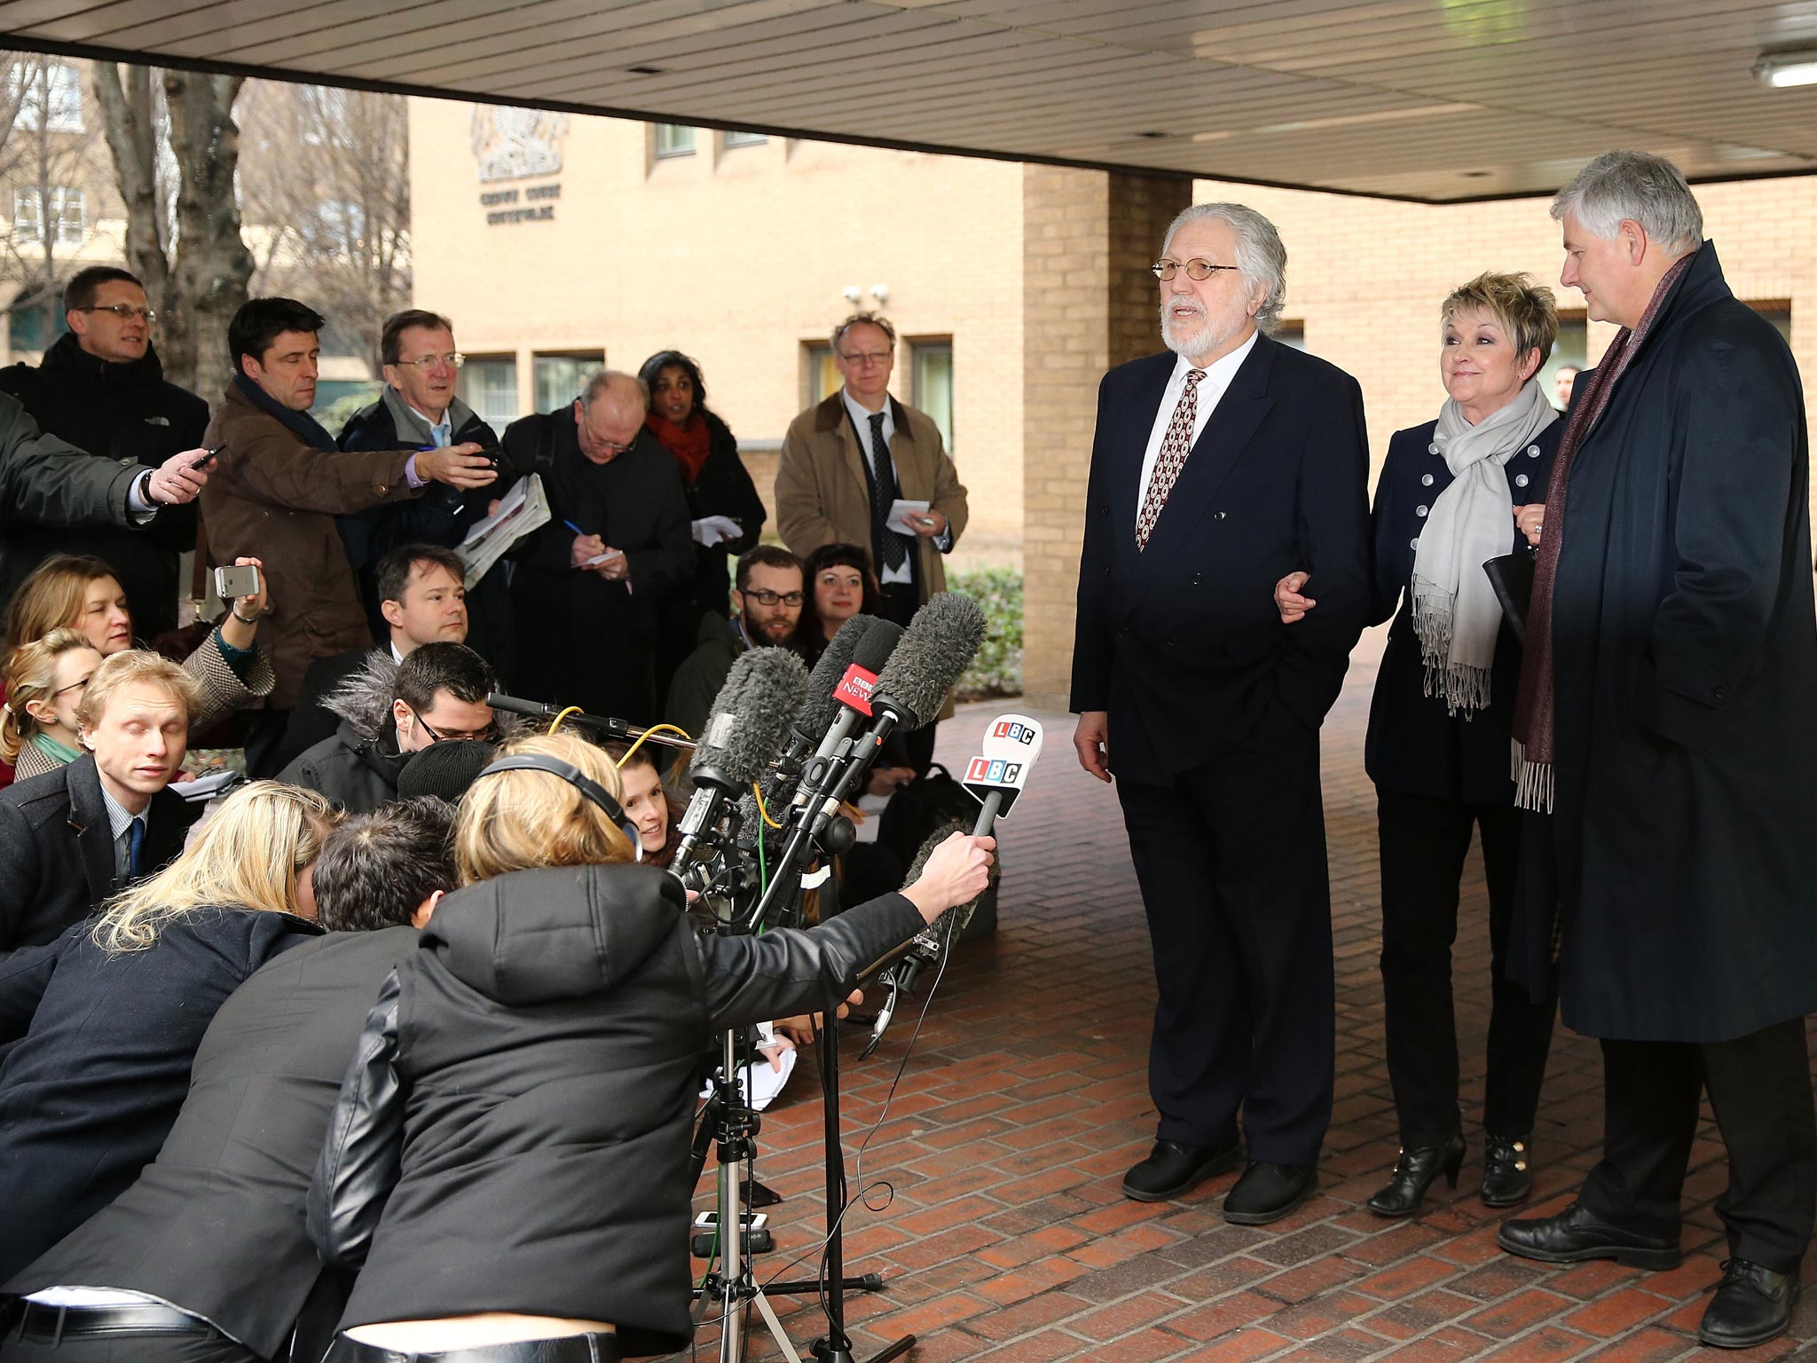
[[[1728,1147],[1728,1189],[1715,1199],[1728,1252],[1790,1272],[1817,1216],[1817,1114],[1802,1018],[1733,1041],[1603,1041],[1603,1159],[1579,1199],[1630,1230],[1677,1236],[1704,1089]]]

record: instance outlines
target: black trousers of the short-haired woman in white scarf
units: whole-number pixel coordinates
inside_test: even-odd
[[[1457,1109],[1457,1020],[1452,943],[1470,831],[1483,840],[1488,881],[1490,1014],[1483,1127],[1526,1136],[1552,1049],[1557,998],[1534,1001],[1506,978],[1521,811],[1375,791],[1381,834],[1381,992],[1388,1016],[1388,1079],[1401,1145],[1443,1145],[1463,1130]]]

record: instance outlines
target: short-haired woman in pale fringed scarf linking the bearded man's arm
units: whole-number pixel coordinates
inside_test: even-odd
[[[1524,549],[1519,523],[1544,516],[1563,423],[1534,378],[1557,336],[1552,291],[1524,274],[1481,274],[1439,309],[1437,422],[1395,433],[1375,485],[1375,592],[1370,623],[1394,616],[1375,674],[1365,765],[1381,838],[1381,985],[1388,1079],[1401,1119],[1394,1176],[1368,1207],[1419,1209],[1465,1158],[1457,1107],[1452,941],[1470,834],[1483,843],[1490,900],[1488,1081],[1481,1198],[1524,1201],[1532,1130],[1552,1045],[1552,994],[1528,1000],[1508,978],[1521,812],[1510,731],[1521,645],[1483,562]],[[1276,587],[1299,629],[1317,607],[1305,574]],[[1395,614],[1399,605],[1399,614]]]

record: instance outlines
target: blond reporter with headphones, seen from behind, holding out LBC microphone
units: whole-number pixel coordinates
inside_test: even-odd
[[[809,932],[700,936],[678,880],[630,860],[611,760],[578,738],[511,756],[462,803],[465,889],[367,1020],[309,1194],[360,1278],[331,1359],[616,1359],[683,1348],[689,1123],[716,1029],[834,1007],[985,887],[954,836],[901,894]]]

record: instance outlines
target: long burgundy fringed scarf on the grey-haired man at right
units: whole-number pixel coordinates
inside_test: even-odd
[[[1559,454],[1552,462],[1552,478],[1546,483],[1546,518],[1539,536],[1537,562],[1534,563],[1534,598],[1526,607],[1526,649],[1521,654],[1521,691],[1514,703],[1514,803],[1521,809],[1534,809],[1543,814],[1552,812],[1554,778],[1554,672],[1552,672],[1552,585],[1559,571],[1559,549],[1564,543],[1564,489],[1572,478],[1572,463],[1577,447],[1583,445],[1590,427],[1597,423],[1615,393],[1615,382],[1628,369],[1633,353],[1641,349],[1646,333],[1653,327],[1653,318],[1664,303],[1666,294],[1679,276],[1690,269],[1692,251],[1679,258],[1659,287],[1653,289],[1641,322],[1628,331],[1623,327],[1610,342],[1601,363],[1588,374],[1579,374],[1577,382],[1590,380],[1588,391],[1572,407],[1564,422],[1564,436],[1559,440]]]

